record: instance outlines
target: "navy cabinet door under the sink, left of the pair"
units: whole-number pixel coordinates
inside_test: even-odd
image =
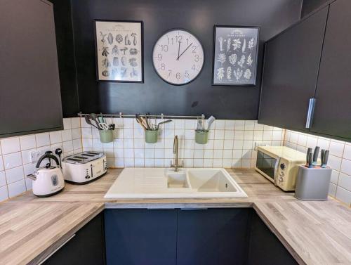
[[[107,264],[176,265],[177,211],[106,209]]]

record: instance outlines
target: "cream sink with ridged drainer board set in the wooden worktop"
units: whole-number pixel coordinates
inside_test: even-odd
[[[107,199],[247,198],[225,169],[124,169],[105,194]]]

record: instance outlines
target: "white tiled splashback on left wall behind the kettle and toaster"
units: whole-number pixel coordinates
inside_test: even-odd
[[[48,150],[54,151],[56,148],[62,148],[63,157],[73,152],[81,152],[80,121],[79,117],[63,119],[64,131],[1,139],[0,201],[32,189],[32,180],[25,177],[35,170],[36,162],[31,163],[31,151],[39,150],[44,153]]]

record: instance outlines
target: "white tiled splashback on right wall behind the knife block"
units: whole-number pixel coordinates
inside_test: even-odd
[[[286,130],[284,146],[304,153],[307,148],[313,149],[315,146],[328,149],[330,151],[328,165],[333,169],[329,194],[351,205],[351,143]]]

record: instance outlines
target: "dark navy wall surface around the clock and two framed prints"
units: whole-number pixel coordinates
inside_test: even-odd
[[[302,5],[302,0],[71,0],[72,6],[67,7],[69,0],[52,1],[59,6],[55,8],[55,21],[66,117],[81,110],[173,115],[204,113],[222,119],[257,119],[263,43],[296,22]],[[71,15],[73,34],[67,28]],[[95,81],[94,19],[143,20],[144,84]],[[260,26],[256,86],[211,86],[215,24]],[[201,75],[185,86],[167,84],[152,67],[155,41],[174,27],[183,27],[197,35],[206,56]]]

